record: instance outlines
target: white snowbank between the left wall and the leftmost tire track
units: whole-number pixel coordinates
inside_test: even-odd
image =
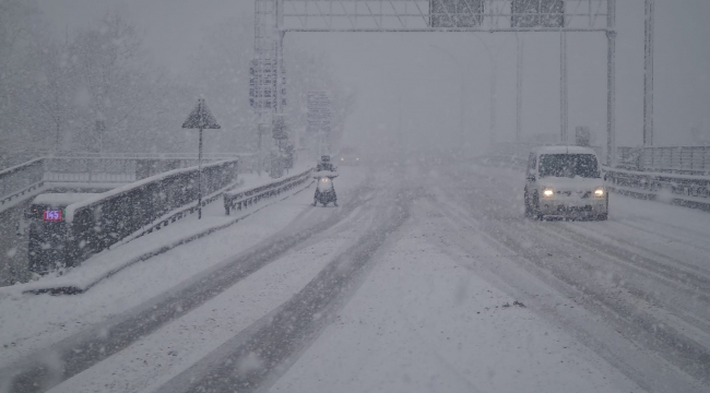
[[[341,193],[346,193],[365,180],[365,170],[345,168],[341,172],[342,179],[338,181]],[[297,190],[292,192],[296,193]],[[13,287],[7,288],[12,291],[7,290],[0,297],[0,368],[157,296],[286,228],[299,214],[312,210],[308,205],[312,202],[312,190],[311,186],[284,201],[267,201],[250,207],[244,214],[269,204],[223,230],[135,263],[99,282],[85,294],[32,295],[21,294]],[[233,219],[235,216],[230,217]],[[209,226],[210,218],[213,218],[212,224],[225,221],[221,202],[203,210],[204,223],[197,224],[197,217],[190,217],[185,223],[168,226],[166,229],[171,230],[169,233],[155,231],[96,258],[108,260],[109,263],[115,263],[111,259],[127,260],[132,254],[170,241],[170,236],[181,237],[196,231],[196,228],[200,229],[199,225]],[[83,275],[79,269],[76,273]]]

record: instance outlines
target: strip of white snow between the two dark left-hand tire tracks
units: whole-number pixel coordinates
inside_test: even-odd
[[[308,196],[312,199],[311,194]],[[303,289],[338,252],[362,235],[355,225],[358,221],[362,218],[357,214],[351,215],[316,245],[304,245],[289,252],[184,318],[50,391],[151,392],[157,389]]]

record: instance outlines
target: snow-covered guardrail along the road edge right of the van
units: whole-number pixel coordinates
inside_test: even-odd
[[[604,168],[618,193],[710,212],[710,177]]]

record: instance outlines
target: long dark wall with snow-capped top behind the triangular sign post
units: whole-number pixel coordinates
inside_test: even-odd
[[[211,194],[235,183],[238,159],[202,168],[202,191]],[[76,264],[91,255],[198,200],[198,167],[175,169],[97,194],[67,206],[69,234],[66,261]]]

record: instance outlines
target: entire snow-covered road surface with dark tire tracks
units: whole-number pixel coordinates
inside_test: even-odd
[[[708,391],[709,214],[533,222],[521,172],[472,163],[338,181],[339,209],[308,189],[86,294],[0,300],[0,392]]]

